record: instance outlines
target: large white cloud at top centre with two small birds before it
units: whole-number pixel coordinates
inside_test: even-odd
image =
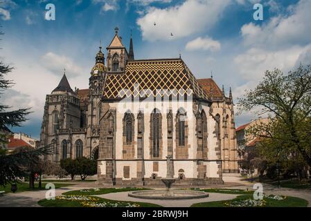
[[[168,8],[150,7],[136,23],[143,39],[148,41],[186,37],[211,28],[230,3],[229,0],[186,0],[181,5]],[[170,33],[174,35],[173,38]]]

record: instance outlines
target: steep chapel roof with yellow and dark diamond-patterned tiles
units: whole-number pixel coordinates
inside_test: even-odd
[[[139,87],[136,87],[137,85]],[[163,97],[170,96],[170,93],[173,96],[187,93],[208,100],[197,79],[181,59],[128,61],[125,73],[106,75],[103,98],[120,99],[158,95]]]

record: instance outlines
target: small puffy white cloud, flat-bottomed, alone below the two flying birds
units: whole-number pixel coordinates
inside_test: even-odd
[[[215,41],[210,37],[198,37],[186,44],[186,50],[220,50],[221,44],[219,41]]]

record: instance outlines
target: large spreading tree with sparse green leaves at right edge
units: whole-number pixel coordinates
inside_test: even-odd
[[[263,153],[271,162],[290,160],[292,154],[311,166],[311,66],[299,66],[284,75],[281,70],[267,70],[263,81],[238,99],[240,111],[267,114],[269,124],[249,129],[261,137]]]

